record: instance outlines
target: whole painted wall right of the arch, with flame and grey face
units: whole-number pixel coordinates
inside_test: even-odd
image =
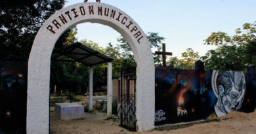
[[[255,103],[248,93],[255,93],[256,75],[247,77],[236,71],[156,69],[155,124],[216,118],[231,110],[252,112]]]

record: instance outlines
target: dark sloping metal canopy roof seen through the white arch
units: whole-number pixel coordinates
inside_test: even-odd
[[[67,56],[68,58],[74,59],[75,61],[84,63],[85,65],[93,66],[99,65],[114,60],[84,44],[81,42],[75,42],[64,48],[57,48],[53,50],[52,59],[58,60],[59,56]],[[67,61],[67,60],[66,60]]]

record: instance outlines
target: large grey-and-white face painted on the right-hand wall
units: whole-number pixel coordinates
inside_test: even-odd
[[[242,72],[214,71],[213,91],[218,101],[215,105],[217,116],[240,109],[244,100],[245,77]]]

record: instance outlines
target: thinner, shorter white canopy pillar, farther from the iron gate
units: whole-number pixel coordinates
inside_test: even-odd
[[[89,110],[93,110],[93,67],[89,67]]]

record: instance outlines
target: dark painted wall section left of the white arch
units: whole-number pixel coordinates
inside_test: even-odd
[[[26,133],[27,64],[0,61],[0,133]]]

